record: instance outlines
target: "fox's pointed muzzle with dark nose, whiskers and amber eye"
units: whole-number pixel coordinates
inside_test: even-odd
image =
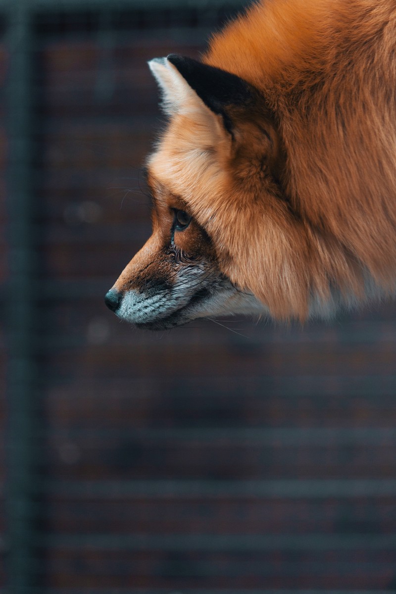
[[[209,315],[213,302],[235,291],[192,217],[170,211],[170,218],[154,214],[153,235],[104,298],[119,318],[141,328],[163,330]]]

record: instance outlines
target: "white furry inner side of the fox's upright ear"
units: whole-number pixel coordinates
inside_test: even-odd
[[[148,62],[162,92],[162,107],[168,115],[206,110],[204,102],[167,58],[154,58]]]

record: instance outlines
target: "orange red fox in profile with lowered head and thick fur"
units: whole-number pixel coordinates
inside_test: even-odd
[[[122,320],[328,319],[396,287],[396,2],[259,0],[148,66],[166,125]]]

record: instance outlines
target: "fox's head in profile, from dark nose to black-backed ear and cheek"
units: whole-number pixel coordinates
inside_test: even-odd
[[[305,318],[312,295],[329,298],[332,245],[318,247],[325,240],[290,207],[286,151],[264,97],[191,58],[149,65],[169,118],[147,160],[153,235],[107,306],[152,329],[224,314]]]

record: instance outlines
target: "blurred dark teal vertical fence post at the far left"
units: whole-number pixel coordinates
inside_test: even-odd
[[[34,352],[35,245],[32,225],[32,43],[28,2],[8,8],[7,80],[9,278],[8,303],[8,589],[27,594],[34,585],[34,435],[37,374]]]

